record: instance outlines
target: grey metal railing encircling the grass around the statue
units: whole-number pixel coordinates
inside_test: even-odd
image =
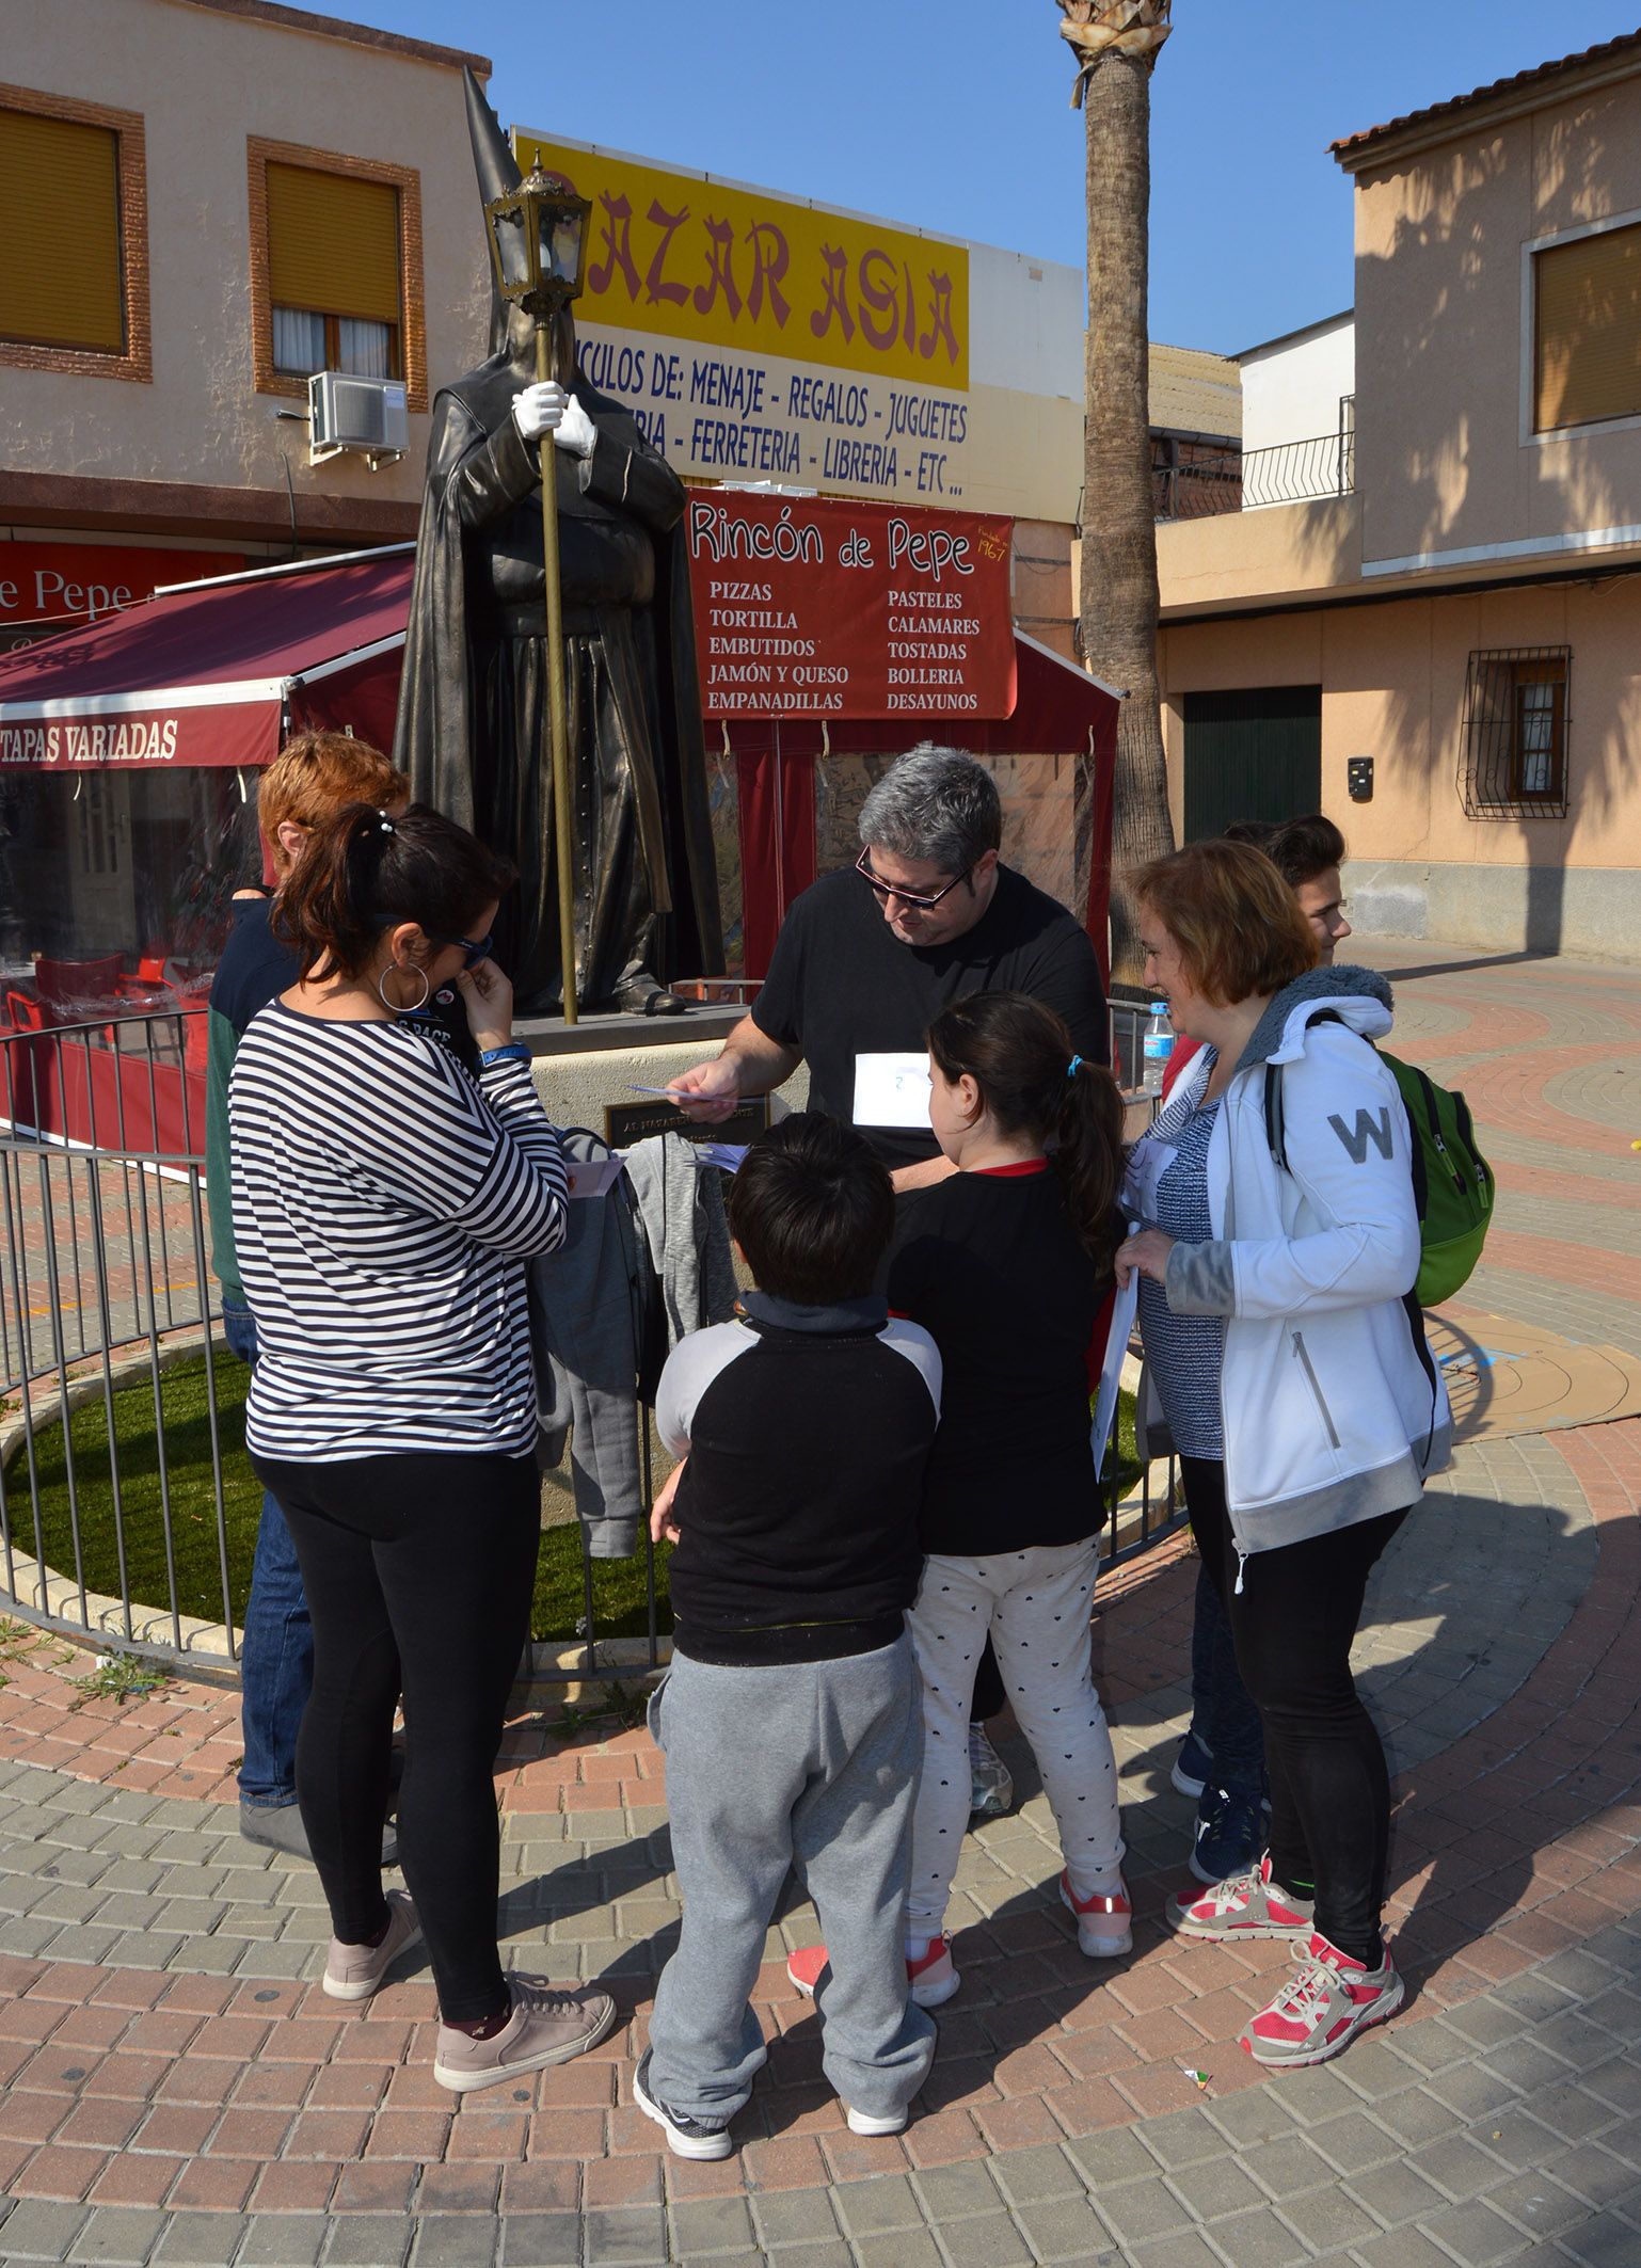
[[[209,1268],[200,1016],[0,1032],[0,1613],[232,1674],[261,1490]],[[1142,1023],[1114,1007],[1114,1059]],[[649,1501],[647,1411],[640,1472]],[[1128,1488],[1112,1470],[1103,1495],[1108,1563],[1183,1522],[1171,1461]],[[538,1683],[660,1665],[663,1588],[640,1549],[645,1633],[599,1631],[583,1549],[581,1624],[536,1644]]]

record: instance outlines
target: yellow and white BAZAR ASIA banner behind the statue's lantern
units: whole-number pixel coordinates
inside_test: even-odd
[[[581,367],[692,481],[956,501],[969,247],[513,129],[592,202]]]

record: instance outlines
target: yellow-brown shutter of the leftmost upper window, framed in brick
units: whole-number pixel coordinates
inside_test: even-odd
[[[0,109],[0,338],[125,354],[111,127]]]

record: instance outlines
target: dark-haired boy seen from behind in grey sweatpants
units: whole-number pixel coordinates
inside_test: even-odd
[[[874,1295],[890,1175],[853,1127],[799,1111],[747,1152],[729,1222],[758,1290],[667,1359],[656,1427],[685,1458],[672,1538],[667,1758],[679,1950],[633,2096],[676,2157],[729,2157],[765,2043],[749,2005],[797,1869],[831,1953],[822,2064],[856,2134],[899,2134],[935,2053],[901,1921],[922,1767],[917,1594],[940,1356]]]

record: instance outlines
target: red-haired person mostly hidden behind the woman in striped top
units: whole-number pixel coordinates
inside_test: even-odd
[[[256,1325],[245,1306],[229,1209],[227,1082],[252,1016],[297,980],[295,953],[270,928],[279,889],[295,873],[313,828],[347,803],[399,810],[411,782],[381,748],[347,733],[297,733],[256,787],[256,826],[275,889],[234,898],[234,928],[211,980],[204,1057],[204,1175],[211,1213],[211,1266],[222,1286],[222,1336],[243,1363],[256,1361]],[[297,1733],[313,1687],[313,1626],[286,1517],[263,1497],[250,1603],[241,1633],[238,1830],[250,1842],[309,1857],[297,1810]],[[384,1837],[384,1864],[395,1837]]]

